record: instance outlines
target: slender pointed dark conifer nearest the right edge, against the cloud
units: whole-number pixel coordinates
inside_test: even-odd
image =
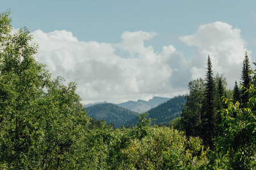
[[[241,90],[241,100],[242,100],[242,107],[246,106],[246,103],[249,101],[249,95],[245,92],[251,83],[251,76],[248,74],[250,71],[249,65],[249,57],[247,56],[247,52],[245,52],[245,59],[243,60],[243,68],[242,68],[242,75],[241,75],[241,85],[245,88]]]

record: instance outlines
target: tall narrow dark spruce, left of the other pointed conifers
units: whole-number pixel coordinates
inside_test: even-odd
[[[200,137],[203,138],[205,145],[213,147],[212,139],[215,137],[216,128],[216,90],[213,79],[212,62],[208,55],[207,74],[205,79],[205,92],[203,102],[203,114],[201,116]]]

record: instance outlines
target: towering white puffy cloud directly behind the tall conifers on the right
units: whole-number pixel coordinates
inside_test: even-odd
[[[209,54],[214,73],[224,74],[230,87],[233,87],[235,80],[240,79],[245,52],[249,56],[251,53],[241,37],[241,30],[222,22],[200,25],[195,34],[181,36],[179,39],[196,47],[190,70],[192,79],[205,77]]]

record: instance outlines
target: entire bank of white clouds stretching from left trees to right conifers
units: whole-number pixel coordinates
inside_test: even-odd
[[[185,59],[173,45],[163,46],[160,53],[145,46],[145,41],[157,36],[155,32],[125,31],[118,44],[79,41],[68,31],[32,32],[39,44],[36,58],[47,65],[53,78],[60,75],[75,81],[86,104],[185,94],[189,80],[205,78],[208,54],[213,70],[233,83],[240,78],[247,50],[240,33],[226,23],[200,25],[195,34],[179,38],[195,46],[193,56]]]

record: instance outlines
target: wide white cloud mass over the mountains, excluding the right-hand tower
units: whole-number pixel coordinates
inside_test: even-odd
[[[84,103],[121,103],[187,91],[189,75],[183,72],[187,62],[183,54],[172,45],[164,46],[159,54],[152,46],[144,46],[144,41],[156,36],[155,32],[125,31],[118,44],[78,41],[67,31],[37,30],[32,34],[39,44],[36,58],[47,65],[53,77],[75,81]],[[184,86],[179,85],[180,76],[184,76]]]

